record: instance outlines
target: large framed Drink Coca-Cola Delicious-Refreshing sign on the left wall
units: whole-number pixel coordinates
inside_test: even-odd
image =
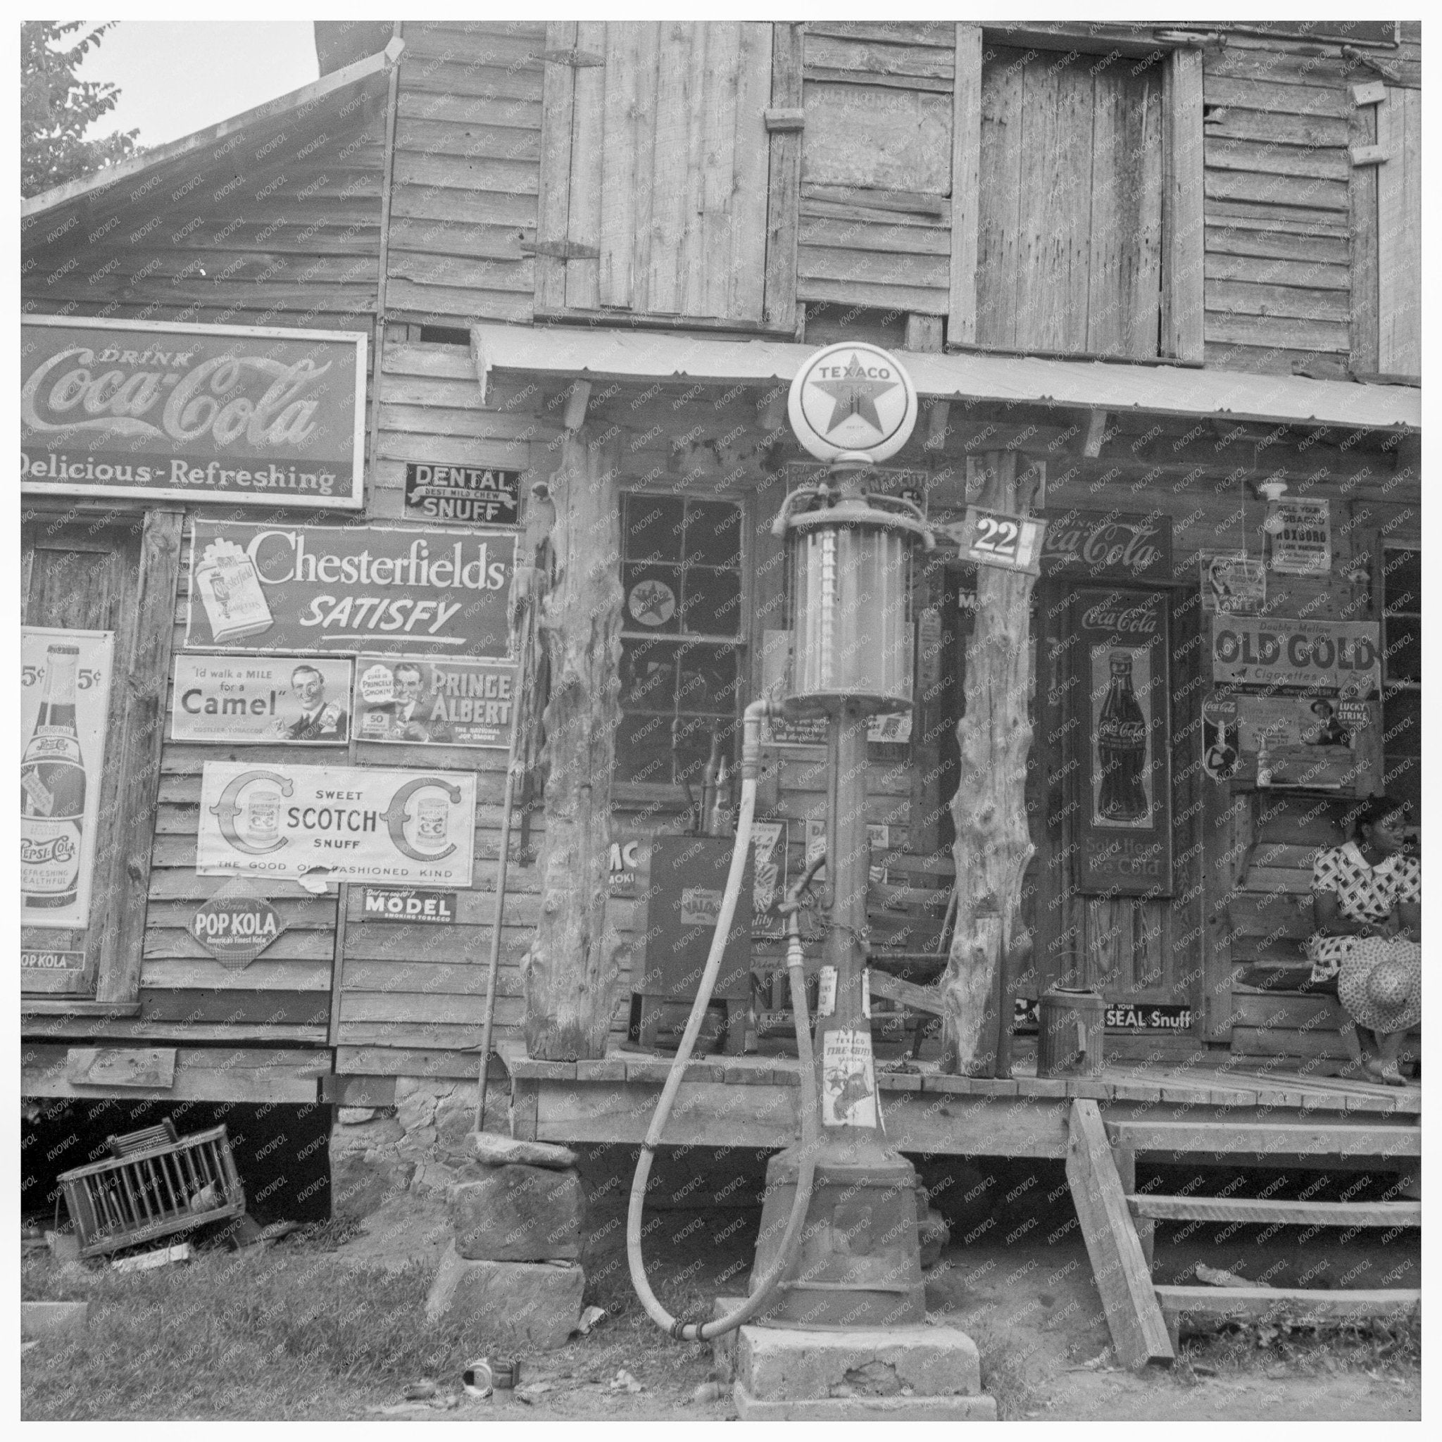
[[[362,503],[360,333],[29,317],[20,489]]]

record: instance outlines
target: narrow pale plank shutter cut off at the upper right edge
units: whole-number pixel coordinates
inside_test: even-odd
[[[1377,107],[1377,369],[1422,373],[1422,92]]]

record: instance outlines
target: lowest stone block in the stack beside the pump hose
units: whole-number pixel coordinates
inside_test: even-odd
[[[535,1351],[564,1347],[581,1319],[585,1273],[544,1262],[472,1262],[446,1249],[425,1299],[431,1321],[460,1322],[477,1343],[503,1332]]]

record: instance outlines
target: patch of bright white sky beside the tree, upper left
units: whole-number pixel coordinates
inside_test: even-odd
[[[121,20],[76,74],[121,89],[89,138],[138,127],[140,144],[163,146],[300,89],[319,71],[310,20]]]

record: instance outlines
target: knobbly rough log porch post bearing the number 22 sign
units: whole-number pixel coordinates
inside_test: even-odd
[[[1017,453],[989,451],[982,505],[1025,515],[1034,480],[1017,483]],[[966,714],[956,822],[956,930],[942,978],[942,1067],[989,1076],[996,1018],[988,1017],[999,959],[1011,945],[1021,878],[1035,849],[1027,831],[1030,603],[1034,578],[978,567],[976,624],[966,642]]]

